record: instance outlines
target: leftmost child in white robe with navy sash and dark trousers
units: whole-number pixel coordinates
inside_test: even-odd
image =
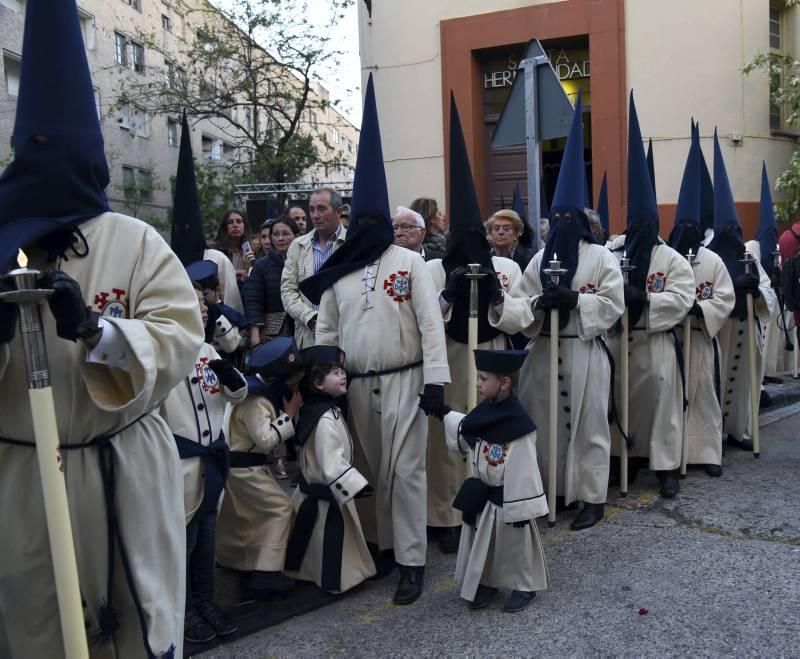
[[[203,288],[198,282],[193,284],[205,323],[208,310]],[[183,638],[191,643],[207,643],[238,629],[214,602],[214,529],[217,503],[227,476],[225,410],[229,402],[238,403],[246,395],[247,383],[242,374],[204,343],[192,370],[161,405],[161,416],[175,436],[183,468],[186,511]]]

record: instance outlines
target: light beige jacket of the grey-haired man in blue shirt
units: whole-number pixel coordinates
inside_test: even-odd
[[[283,308],[294,318],[294,340],[301,350],[314,345],[314,332],[308,328],[308,323],[317,315],[317,310],[300,292],[300,282],[314,274],[312,241],[315,235],[316,229],[292,241],[286,253],[286,263],[283,265],[281,275]],[[346,237],[347,229],[341,227],[333,247],[334,251],[339,249]]]

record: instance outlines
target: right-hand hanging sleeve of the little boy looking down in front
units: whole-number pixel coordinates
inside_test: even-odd
[[[546,515],[539,463],[536,460],[536,431],[509,445],[503,482],[503,521],[524,522]]]

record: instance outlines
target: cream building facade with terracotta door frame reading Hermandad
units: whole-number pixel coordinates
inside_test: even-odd
[[[491,136],[530,39],[539,39],[567,93],[580,88],[590,195],[608,173],[613,231],[625,222],[628,94],[654,145],[662,235],[673,221],[690,140],[700,123],[709,167],[717,127],[745,233],[758,221],[761,161],[772,180],[798,145],[771,106],[766,74],[743,75],[759,52],[794,55],[800,15],[770,0],[359,1],[363,74],[375,76],[392,203],[446,203],[449,96],[458,102],[485,216],[525,185],[524,147]],[[542,145],[550,198],[563,140]],[[778,198],[780,198],[778,196]]]

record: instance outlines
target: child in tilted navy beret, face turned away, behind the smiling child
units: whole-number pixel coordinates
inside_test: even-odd
[[[250,357],[248,393],[230,419],[230,473],[217,522],[217,562],[248,572],[261,596],[284,592],[294,580],[281,573],[292,526],[289,497],[267,467],[267,455],[294,437],[303,399],[303,369],[291,337],[277,337]]]

